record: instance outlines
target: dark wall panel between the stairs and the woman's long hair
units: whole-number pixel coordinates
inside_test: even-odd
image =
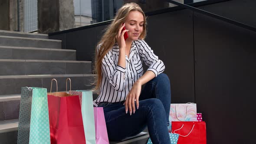
[[[76,49],[78,61],[92,61],[95,49],[95,27],[66,33],[66,49]]]

